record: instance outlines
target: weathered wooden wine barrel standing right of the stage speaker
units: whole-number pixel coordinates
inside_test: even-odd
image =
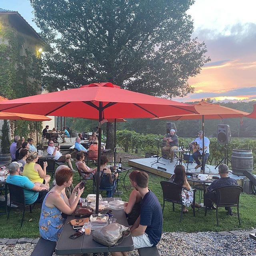
[[[244,175],[244,171],[252,172],[252,150],[233,149],[231,155],[231,166],[233,174]]]

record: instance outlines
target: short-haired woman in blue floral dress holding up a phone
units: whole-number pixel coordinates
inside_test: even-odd
[[[60,170],[56,170],[56,186],[44,198],[39,220],[39,232],[40,236],[46,240],[58,241],[64,225],[62,212],[64,214],[72,214],[84,191],[84,188],[79,189],[80,182],[75,186],[70,198],[67,198],[65,188],[72,183],[72,177],[73,172],[68,166],[63,166]]]

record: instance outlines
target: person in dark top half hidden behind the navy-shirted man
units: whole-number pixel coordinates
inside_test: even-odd
[[[130,182],[132,183],[134,181],[134,177],[136,174],[140,172],[137,170],[132,171],[129,174]],[[126,213],[126,218],[129,226],[133,225],[134,222],[137,220],[138,216],[140,216],[140,202],[142,200],[142,197],[138,190],[134,189],[132,190],[128,203],[124,204],[124,212]]]

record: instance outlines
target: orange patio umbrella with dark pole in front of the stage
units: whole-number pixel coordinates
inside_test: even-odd
[[[202,119],[202,131],[203,131],[203,148],[204,148],[204,119],[224,119],[224,118],[237,118],[237,117],[248,117],[248,113],[233,108],[227,108],[218,104],[212,104],[206,101],[193,104],[195,110],[199,114],[185,114],[185,115],[173,115],[173,116],[162,116],[159,118],[152,119],[164,119],[164,120],[194,120]],[[202,157],[202,170],[204,171],[204,155],[203,150]]]

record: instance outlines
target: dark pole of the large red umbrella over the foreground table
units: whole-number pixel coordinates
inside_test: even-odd
[[[99,102],[99,132],[98,132],[98,165],[97,165],[97,172],[95,174],[96,178],[96,209],[95,213],[99,213],[99,195],[100,195],[100,180],[101,180],[101,174],[100,174],[100,156],[101,156],[101,124],[100,121],[102,120],[102,111],[103,106],[102,102]],[[102,170],[103,173],[103,170]]]

